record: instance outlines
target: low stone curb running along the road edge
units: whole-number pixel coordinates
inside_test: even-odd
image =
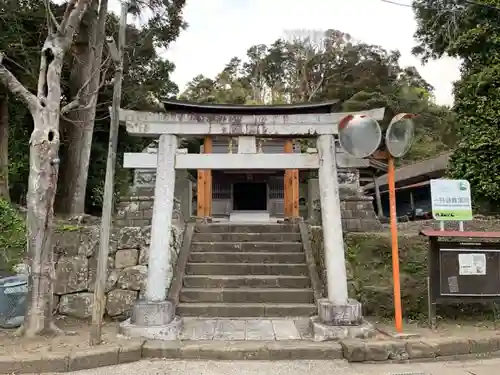
[[[325,360],[408,363],[500,357],[500,335],[478,339],[433,338],[337,342],[131,340],[67,353],[0,356],[0,374],[69,372],[141,359]]]

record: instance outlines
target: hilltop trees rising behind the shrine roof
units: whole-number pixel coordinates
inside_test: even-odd
[[[245,59],[232,58],[216,77],[194,77],[181,97],[234,104],[339,99],[346,111],[386,106],[417,113],[417,142],[407,159],[434,156],[453,145],[454,118],[434,104],[433,87],[417,69],[399,59],[398,51],[328,30],[251,46]]]

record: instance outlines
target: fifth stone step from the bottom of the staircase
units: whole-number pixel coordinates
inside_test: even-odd
[[[304,253],[263,252],[192,252],[189,261],[194,263],[304,263]]]

